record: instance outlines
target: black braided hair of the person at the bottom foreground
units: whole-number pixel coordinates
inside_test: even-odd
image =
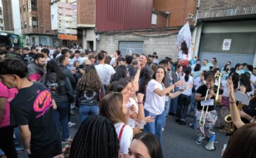
[[[70,158],[118,158],[115,126],[102,116],[91,116],[79,127],[70,148]]]

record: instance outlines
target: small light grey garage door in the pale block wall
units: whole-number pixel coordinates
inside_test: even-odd
[[[132,55],[132,53],[143,53],[143,41],[119,41],[118,49],[122,55]]]

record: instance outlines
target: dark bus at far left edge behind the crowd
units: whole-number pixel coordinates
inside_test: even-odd
[[[0,44],[23,47],[23,40],[19,34],[15,34],[14,32],[0,31]]]

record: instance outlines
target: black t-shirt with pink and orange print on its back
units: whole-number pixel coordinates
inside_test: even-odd
[[[44,153],[52,143],[60,140],[60,131],[53,118],[51,93],[44,84],[34,82],[20,89],[10,107],[11,124],[30,128],[32,152]]]

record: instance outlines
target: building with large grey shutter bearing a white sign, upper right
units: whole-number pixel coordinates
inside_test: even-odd
[[[256,66],[256,1],[200,0],[196,29],[193,30],[194,55]]]

